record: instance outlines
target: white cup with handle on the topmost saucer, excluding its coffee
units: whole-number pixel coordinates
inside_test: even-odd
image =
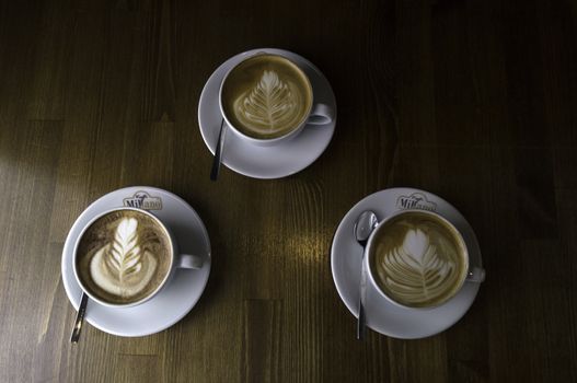
[[[249,59],[252,59],[252,58],[255,58],[257,56],[263,56],[263,55],[276,56],[276,57],[279,57],[279,58],[292,63],[295,66],[295,68],[302,74],[302,77],[307,79],[308,86],[309,86],[309,89],[311,91],[311,94],[312,94],[312,100],[311,100],[311,103],[310,103],[310,105],[308,107],[308,112],[305,114],[305,117],[298,125],[296,125],[290,131],[288,131],[287,134],[285,134],[282,136],[279,136],[279,137],[274,137],[274,138],[255,138],[255,137],[251,137],[249,135],[245,135],[244,132],[239,130],[239,128],[235,127],[234,124],[231,121],[231,119],[227,116],[227,113],[224,112],[224,107],[223,107],[223,102],[222,102],[222,89],[223,89],[227,80],[229,79],[230,73],[233,72],[244,61],[246,61]],[[323,125],[331,124],[334,120],[334,111],[332,109],[332,107],[326,105],[326,104],[323,104],[323,103],[316,103],[314,101],[314,89],[311,85],[311,81],[310,81],[309,77],[307,76],[305,71],[302,69],[302,67],[299,66],[297,62],[295,62],[291,58],[289,58],[287,55],[285,55],[282,53],[267,53],[266,50],[263,50],[263,51],[259,51],[259,53],[256,53],[254,55],[250,55],[250,56],[243,58],[234,67],[232,67],[231,69],[228,70],[228,72],[224,74],[224,78],[222,79],[222,82],[220,83],[219,106],[220,106],[220,113],[222,115],[222,118],[224,119],[226,124],[228,125],[228,127],[230,128],[230,130],[234,135],[236,135],[238,137],[240,137],[244,141],[247,141],[250,143],[253,143],[253,144],[256,144],[256,146],[261,146],[261,147],[275,146],[275,144],[278,144],[278,143],[282,142],[282,141],[289,140],[289,139],[298,136],[307,125],[323,126]]]

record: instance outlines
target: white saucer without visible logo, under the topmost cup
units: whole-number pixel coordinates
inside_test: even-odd
[[[230,68],[246,56],[258,51],[282,54],[304,70],[314,90],[314,102],[331,106],[335,118],[323,126],[307,125],[293,139],[274,147],[258,147],[245,142],[232,131],[227,131],[222,148],[222,163],[236,173],[254,178],[280,178],[312,164],[326,149],[336,124],[336,101],[331,84],[321,71],[309,60],[282,49],[253,49],[228,59],[210,76],[198,103],[198,125],[206,146],[211,153],[218,140],[222,115],[219,107],[219,89],[222,78]]]

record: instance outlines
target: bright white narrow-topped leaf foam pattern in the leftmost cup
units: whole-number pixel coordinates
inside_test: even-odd
[[[147,288],[157,269],[157,260],[142,249],[138,237],[138,221],[123,219],[111,243],[97,249],[90,262],[94,282],[106,292],[134,297]]]

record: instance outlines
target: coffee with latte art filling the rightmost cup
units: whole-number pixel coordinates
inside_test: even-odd
[[[469,267],[466,247],[445,220],[406,211],[383,222],[374,235],[371,274],[393,301],[411,307],[435,306],[461,288]]]

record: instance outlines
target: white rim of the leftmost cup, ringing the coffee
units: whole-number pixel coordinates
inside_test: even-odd
[[[152,220],[154,220],[165,232],[166,236],[169,237],[170,240],[170,248],[171,248],[171,263],[169,265],[169,268],[168,268],[168,272],[166,275],[164,276],[164,278],[162,279],[162,282],[159,283],[159,286],[157,287],[157,289],[154,289],[154,291],[152,291],[150,294],[148,294],[147,297],[143,297],[142,299],[138,300],[138,301],[135,301],[135,302],[130,302],[130,303],[112,303],[112,302],[106,302],[97,297],[95,297],[92,292],[89,291],[89,289],[82,283],[82,280],[81,278],[79,277],[79,272],[78,272],[78,267],[77,267],[77,254],[78,254],[78,246],[80,245],[80,241],[82,239],[82,236],[84,236],[84,233],[88,231],[88,229],[90,227],[92,227],[92,224],[94,222],[96,222],[99,219],[101,219],[102,217],[106,216],[106,214],[109,214],[112,212],[115,212],[115,211],[119,211],[119,210],[131,210],[131,211],[137,211],[137,212],[140,212],[140,213],[143,213],[148,217],[150,217]],[[147,302],[148,300],[152,299],[153,297],[155,297],[160,290],[162,290],[162,288],[166,285],[171,274],[172,274],[172,269],[173,269],[173,266],[175,264],[175,257],[176,257],[176,247],[175,247],[175,242],[174,242],[174,237],[172,235],[172,232],[169,230],[169,228],[164,224],[164,222],[162,222],[157,216],[154,216],[153,213],[151,213],[150,211],[148,210],[145,210],[145,209],[140,209],[140,208],[135,208],[135,207],[117,207],[117,208],[112,208],[112,209],[107,209],[107,210],[104,210],[102,212],[100,212],[97,216],[95,216],[94,218],[92,218],[86,224],[84,224],[84,227],[82,228],[82,231],[80,232],[80,234],[78,234],[77,239],[74,240],[74,247],[73,247],[73,252],[72,252],[72,269],[73,269],[73,272],[74,272],[74,278],[77,280],[77,283],[80,286],[80,289],[82,289],[82,291],[90,297],[90,299],[99,304],[102,304],[104,306],[108,306],[108,307],[115,307],[115,309],[125,309],[125,307],[132,307],[132,306],[136,306],[136,305],[139,305],[141,303],[145,303]]]

